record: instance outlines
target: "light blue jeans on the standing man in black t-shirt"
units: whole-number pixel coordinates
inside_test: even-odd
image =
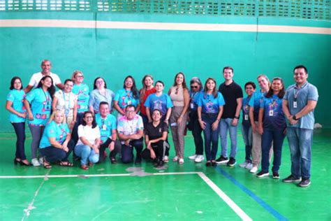
[[[235,158],[237,154],[237,126],[232,125],[233,118],[221,118],[219,135],[221,136],[221,155],[228,156],[228,131],[230,131],[231,152],[230,157]]]

